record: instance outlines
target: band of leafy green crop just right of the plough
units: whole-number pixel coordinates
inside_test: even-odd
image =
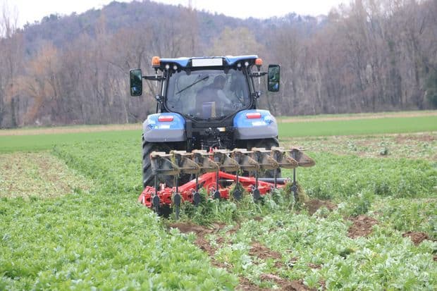
[[[309,153],[312,168],[298,168],[297,180],[310,197],[343,201],[360,192],[378,196],[429,197],[437,185],[437,168],[429,161],[367,159]],[[290,176],[290,171],[283,171]]]

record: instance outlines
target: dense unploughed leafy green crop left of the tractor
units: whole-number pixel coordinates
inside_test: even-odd
[[[84,142],[55,153],[94,180],[88,193],[2,199],[0,286],[6,290],[231,290],[192,240],[138,204],[137,141]],[[123,154],[121,154],[123,153]]]

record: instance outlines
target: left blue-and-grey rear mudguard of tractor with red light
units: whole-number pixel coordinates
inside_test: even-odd
[[[144,140],[147,142],[183,142],[185,119],[178,113],[156,113],[147,116],[142,123]]]

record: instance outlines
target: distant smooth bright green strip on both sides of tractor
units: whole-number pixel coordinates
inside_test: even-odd
[[[280,137],[431,132],[437,131],[437,116],[363,118],[328,121],[314,121],[314,118],[312,118],[312,120],[308,122],[280,122],[278,127]],[[68,130],[68,127],[66,130]],[[39,151],[51,149],[56,144],[73,144],[75,142],[94,140],[138,139],[140,141],[140,135],[140,130],[75,132],[47,135],[6,135],[0,136],[0,152]]]

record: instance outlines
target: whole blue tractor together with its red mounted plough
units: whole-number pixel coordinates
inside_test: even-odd
[[[269,65],[267,72],[261,66],[256,55],[154,56],[154,74],[130,70],[133,97],[142,94],[142,79],[160,83],[156,113],[142,124],[142,204],[178,211],[184,200],[199,202],[200,187],[227,198],[235,184],[256,200],[285,184],[281,168],[294,169],[296,187],[295,168],[314,161],[301,149],[279,147],[276,119],[257,109],[259,78],[267,75],[269,92],[280,88],[280,66]],[[241,195],[233,191],[235,198]]]

